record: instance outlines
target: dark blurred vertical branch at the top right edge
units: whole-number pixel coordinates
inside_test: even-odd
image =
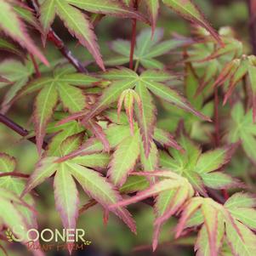
[[[249,12],[249,33],[253,46],[253,54],[256,55],[256,0],[247,0]]]

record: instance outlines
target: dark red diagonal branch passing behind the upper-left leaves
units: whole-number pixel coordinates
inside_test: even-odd
[[[39,5],[37,3],[37,0],[27,0],[27,2],[32,7],[32,9],[34,9],[35,13],[38,14]],[[60,37],[58,37],[58,35],[54,32],[52,28],[50,28],[47,38],[48,41],[54,43],[56,48],[59,49],[60,53],[65,57],[65,59],[67,59],[71,63],[71,65],[73,65],[76,68],[78,72],[87,73],[86,68],[82,65],[82,63],[79,60],[77,60],[76,57],[73,56],[71,50],[65,46],[65,43],[60,39]]]

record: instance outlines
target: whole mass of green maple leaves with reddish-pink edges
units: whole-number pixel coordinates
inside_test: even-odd
[[[190,35],[165,37],[161,8],[187,20]],[[131,40],[98,43],[94,26],[108,16],[123,27],[132,20]],[[69,45],[55,23],[69,32]],[[43,204],[52,194],[52,211],[60,214],[53,222],[60,216],[65,229],[76,229],[83,215],[79,226],[87,229],[87,214],[99,204],[105,225],[113,213],[139,237],[136,222],[153,208],[146,225],[153,226],[156,253],[171,223],[163,230],[169,247],[193,246],[198,256],[254,255],[256,56],[248,42],[230,27],[215,31],[191,0],[0,0],[0,31],[0,122],[9,128],[1,127],[0,139],[8,141],[13,130],[20,145],[36,145],[28,171],[1,146],[3,255],[27,255],[26,247],[24,254],[12,249],[11,237],[20,236],[14,227],[51,225],[38,215],[53,205]],[[28,115],[19,117],[19,107]],[[31,161],[25,150],[19,154],[23,166]]]

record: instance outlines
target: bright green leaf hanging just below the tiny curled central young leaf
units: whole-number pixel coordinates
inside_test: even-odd
[[[145,156],[144,145],[139,136],[137,123],[134,125],[134,134],[132,135],[130,134],[128,119],[125,115],[124,117],[122,116],[120,120],[120,118],[117,117],[117,111],[109,111],[105,112],[105,117],[111,120],[111,122],[114,122],[109,125],[108,128],[104,129],[105,138],[109,142],[110,150],[114,151],[111,155],[107,173],[111,182],[114,185],[122,186],[127,180],[128,175],[134,171],[138,159],[141,162],[142,169],[147,171],[156,169],[158,164],[156,145],[153,143],[149,156]],[[115,122],[119,124],[117,125]],[[174,138],[162,129],[156,128],[153,138],[162,145],[174,146],[178,150],[181,149]],[[73,151],[61,157],[57,162],[63,162],[76,156],[87,156],[104,151],[104,149],[105,146],[100,139],[91,137],[87,139],[77,151]]]

